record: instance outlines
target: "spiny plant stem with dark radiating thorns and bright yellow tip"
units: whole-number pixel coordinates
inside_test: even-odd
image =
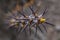
[[[29,32],[31,33],[32,28],[35,28],[36,32],[38,29],[42,32],[42,29],[40,28],[40,24],[42,25],[42,27],[45,29],[46,32],[47,32],[47,29],[44,23],[54,26],[53,24],[47,22],[46,19],[43,17],[47,12],[47,8],[45,8],[43,13],[40,15],[38,15],[37,13],[39,8],[37,8],[35,12],[32,9],[32,7],[29,7],[29,8],[32,11],[32,15],[27,16],[24,14],[24,12],[18,11],[19,14],[21,14],[22,16],[11,19],[10,28],[15,27],[18,30],[18,32],[26,31],[26,29],[29,28]]]

